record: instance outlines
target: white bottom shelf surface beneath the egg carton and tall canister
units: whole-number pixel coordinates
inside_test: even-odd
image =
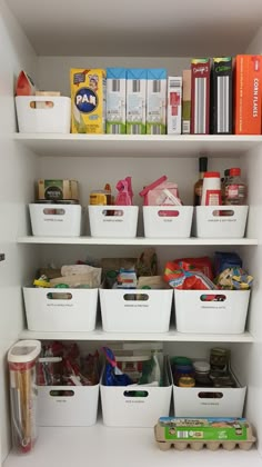
[[[232,451],[222,448],[216,451],[206,448],[161,451],[154,441],[153,428],[112,428],[102,421],[87,428],[41,427],[33,451],[24,456],[10,453],[3,467],[72,467],[90,463],[98,467],[133,467],[135,464],[150,467],[262,467],[262,458],[255,448],[249,451],[239,448]]]

